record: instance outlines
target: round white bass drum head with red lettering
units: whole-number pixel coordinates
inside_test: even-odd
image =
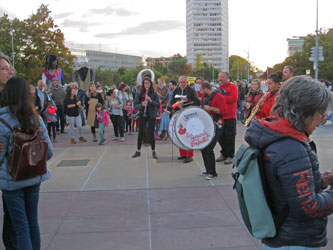
[[[212,117],[199,107],[189,107],[180,111],[175,118],[174,130],[180,144],[190,150],[206,148],[215,136]]]

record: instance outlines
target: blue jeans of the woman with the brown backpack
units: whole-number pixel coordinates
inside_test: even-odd
[[[2,190],[20,250],[39,250],[38,200],[40,184],[22,189]]]

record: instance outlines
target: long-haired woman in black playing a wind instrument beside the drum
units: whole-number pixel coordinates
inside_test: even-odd
[[[148,92],[147,92],[148,90]],[[139,157],[141,155],[141,145],[143,139],[143,131],[145,125],[149,124],[149,137],[150,145],[152,149],[152,155],[154,159],[157,159],[157,154],[155,152],[155,138],[154,138],[154,128],[157,110],[160,107],[160,101],[158,99],[157,93],[154,91],[153,83],[149,78],[143,80],[143,84],[140,89],[140,93],[135,95],[134,108],[140,110],[140,120],[139,120],[139,134],[138,134],[138,144],[133,158]]]

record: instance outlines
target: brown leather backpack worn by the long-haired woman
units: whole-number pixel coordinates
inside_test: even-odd
[[[7,159],[10,164],[9,174],[15,181],[25,180],[47,172],[48,144],[43,140],[43,132],[36,129],[34,133],[27,134],[19,128],[11,128],[7,122],[2,122],[14,135],[13,152]]]

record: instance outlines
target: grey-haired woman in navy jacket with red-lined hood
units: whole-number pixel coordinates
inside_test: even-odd
[[[254,119],[246,130],[246,142],[264,153],[273,215],[288,209],[276,236],[262,240],[264,249],[319,249],[327,244],[333,170],[320,173],[309,136],[326,121],[330,101],[330,92],[318,81],[293,77],[281,88],[272,116]]]

